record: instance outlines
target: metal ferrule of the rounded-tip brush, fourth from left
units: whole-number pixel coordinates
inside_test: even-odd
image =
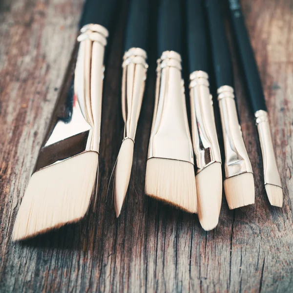
[[[190,74],[192,143],[197,172],[214,162],[222,163],[208,78],[204,71]]]

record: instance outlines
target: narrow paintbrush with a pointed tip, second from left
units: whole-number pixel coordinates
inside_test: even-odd
[[[149,16],[149,0],[130,0],[126,25],[126,52],[122,63],[122,114],[125,127],[115,172],[114,203],[117,217],[129,184],[136,127],[145,90]]]

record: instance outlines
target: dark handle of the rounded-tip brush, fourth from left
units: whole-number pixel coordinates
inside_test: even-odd
[[[189,72],[208,72],[209,57],[205,9],[202,0],[186,0]]]

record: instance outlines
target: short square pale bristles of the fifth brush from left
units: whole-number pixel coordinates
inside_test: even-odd
[[[252,173],[242,173],[225,179],[224,189],[230,209],[254,204],[254,181]]]

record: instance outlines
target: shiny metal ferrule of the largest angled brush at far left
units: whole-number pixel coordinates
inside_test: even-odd
[[[108,31],[98,24],[81,29],[74,94],[63,95],[55,108],[36,171],[84,151],[99,152],[107,36]]]

